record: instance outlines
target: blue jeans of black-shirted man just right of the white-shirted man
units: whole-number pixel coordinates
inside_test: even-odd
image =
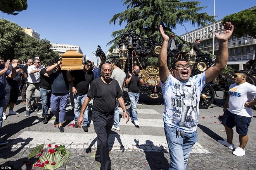
[[[51,100],[52,90],[40,88],[40,95],[42,99],[43,115],[47,115],[49,107],[51,105],[50,100]]]

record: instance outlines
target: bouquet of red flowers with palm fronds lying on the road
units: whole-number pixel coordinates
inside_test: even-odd
[[[38,156],[33,167],[55,170],[69,162],[70,153],[65,149],[64,145],[55,145],[52,147],[51,144],[48,144],[48,148],[43,149],[44,146],[44,143],[36,146],[36,148],[34,148],[28,155],[29,159]]]

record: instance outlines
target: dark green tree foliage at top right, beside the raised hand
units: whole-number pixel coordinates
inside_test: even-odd
[[[234,36],[242,37],[248,34],[256,38],[256,8],[227,15],[223,18],[222,23],[224,24],[227,21],[234,24]]]

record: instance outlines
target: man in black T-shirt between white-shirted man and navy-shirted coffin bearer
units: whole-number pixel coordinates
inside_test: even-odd
[[[40,95],[42,99],[42,116],[44,124],[47,124],[47,122],[49,121],[48,110],[51,104],[50,99],[52,95],[50,77],[46,73],[46,69],[49,68],[49,66],[50,63],[47,63],[46,68],[42,68],[42,70],[40,71]]]

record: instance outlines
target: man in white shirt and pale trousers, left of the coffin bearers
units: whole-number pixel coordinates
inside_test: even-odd
[[[33,60],[33,65],[28,66],[28,78],[27,78],[27,87],[26,87],[26,114],[25,116],[30,115],[31,110],[31,99],[33,97],[33,93],[35,92],[35,100],[33,102],[33,107],[36,112],[38,109],[38,102],[40,100],[40,71],[42,68],[39,68],[41,62],[40,59],[35,58]]]

